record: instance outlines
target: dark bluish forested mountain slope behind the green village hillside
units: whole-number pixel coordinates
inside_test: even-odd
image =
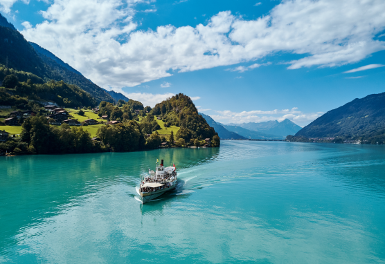
[[[65,64],[48,50],[26,41],[3,16],[0,17],[0,36],[0,64],[32,73],[46,82],[53,79],[74,84],[95,97],[97,102],[114,102],[109,93],[82,76],[78,70]]]

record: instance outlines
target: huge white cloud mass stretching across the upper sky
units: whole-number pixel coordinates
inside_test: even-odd
[[[136,30],[139,2],[149,3],[53,0],[42,11],[44,21],[22,33],[109,88],[253,62],[278,52],[303,55],[286,62],[296,69],[351,64],[385,49],[384,41],[374,40],[385,29],[383,0],[282,1],[256,20],[227,11],[195,27]]]

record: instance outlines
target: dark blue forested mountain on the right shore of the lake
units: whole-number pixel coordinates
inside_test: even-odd
[[[296,133],[306,138],[371,138],[385,134],[385,93],[352,100]]]

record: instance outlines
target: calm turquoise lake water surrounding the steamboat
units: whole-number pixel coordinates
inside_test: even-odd
[[[156,158],[172,194],[141,205]],[[0,157],[0,263],[385,263],[385,147]]]

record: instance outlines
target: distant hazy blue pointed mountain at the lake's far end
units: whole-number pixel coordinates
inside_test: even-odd
[[[267,122],[260,122],[260,123],[243,123],[243,124],[229,124],[233,126],[240,126],[244,129],[248,129],[251,131],[258,131],[269,135],[276,135],[283,138],[286,138],[287,135],[295,135],[298,131],[300,131],[302,128],[301,126],[298,126],[297,124],[294,124],[294,122],[285,119],[282,122],[278,122],[277,120],[274,121],[267,121]]]

